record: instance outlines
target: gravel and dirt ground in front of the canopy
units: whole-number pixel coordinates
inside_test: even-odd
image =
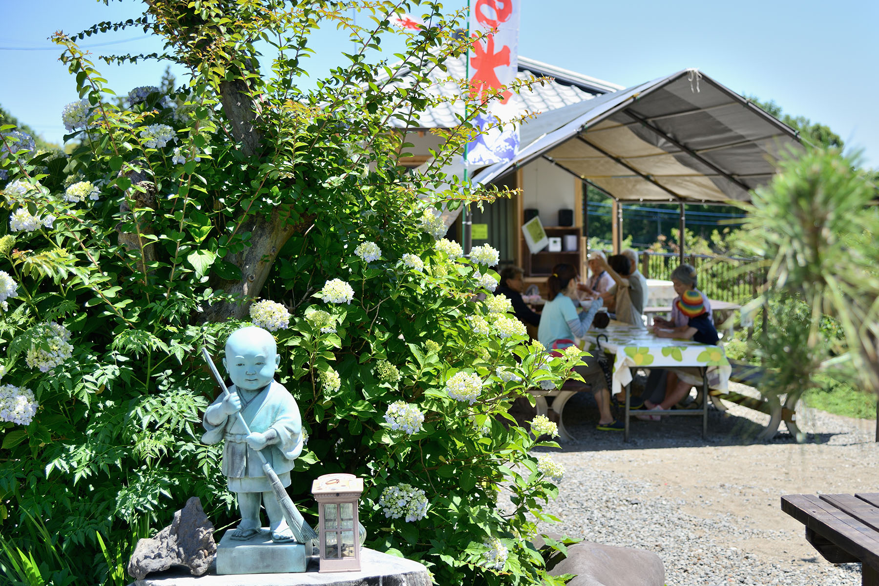
[[[860,564],[825,561],[779,497],[879,491],[875,422],[797,413],[802,444],[783,423],[775,438],[754,443],[768,417],[735,405],[711,411],[706,439],[700,417],[670,417],[634,421],[623,443],[621,433],[594,429],[592,397],[578,394],[564,411],[577,441],[546,450],[567,469],[545,508],[562,522],[541,528],[656,552],[669,586],[860,584]]]

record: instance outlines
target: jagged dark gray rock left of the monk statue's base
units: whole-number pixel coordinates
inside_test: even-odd
[[[171,525],[152,539],[141,539],[128,560],[128,575],[143,580],[150,572],[161,572],[175,566],[189,568],[192,575],[202,575],[214,561],[214,525],[208,520],[197,496],[186,501],[174,513]]]

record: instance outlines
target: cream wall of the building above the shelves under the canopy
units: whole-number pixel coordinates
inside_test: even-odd
[[[575,209],[575,177],[548,161],[537,159],[522,168],[524,193],[522,207],[534,207],[541,216],[544,226],[558,226],[558,211],[562,208]],[[574,223],[579,224],[577,214]]]

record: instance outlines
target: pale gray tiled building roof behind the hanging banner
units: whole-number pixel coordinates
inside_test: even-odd
[[[452,58],[446,61],[447,70],[433,69],[429,77],[432,79],[431,91],[444,98],[460,98],[461,86],[450,80],[461,80],[467,77],[467,68],[464,57]],[[551,112],[567,105],[578,104],[590,100],[596,95],[608,91],[621,90],[622,86],[615,83],[605,82],[594,77],[583,76],[573,71],[559,69],[541,61],[534,61],[527,57],[519,56],[519,80],[527,81],[533,76],[554,77],[548,83],[536,83],[531,90],[523,89],[520,92],[525,108],[529,112]],[[403,75],[399,81],[390,84],[390,87],[405,86],[411,83],[408,76]],[[410,126],[412,130],[419,128],[454,128],[464,116],[464,101],[455,99],[445,101],[442,104],[431,106],[424,112],[418,112],[418,123]],[[405,127],[403,120],[391,118],[391,126]],[[524,142],[523,142],[524,144]]]

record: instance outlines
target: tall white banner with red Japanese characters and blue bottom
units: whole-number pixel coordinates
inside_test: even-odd
[[[516,79],[519,65],[519,8],[521,0],[475,0],[470,11],[469,101],[483,104]],[[486,33],[482,40],[476,40]],[[474,120],[483,132],[467,146],[468,165],[511,161],[519,150],[519,127],[498,122],[513,119],[523,110],[522,99],[512,90],[491,98],[489,110]]]

